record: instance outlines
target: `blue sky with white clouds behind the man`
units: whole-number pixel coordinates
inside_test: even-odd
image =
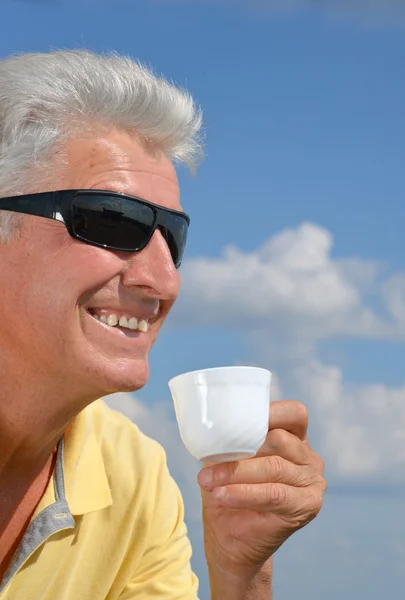
[[[190,89],[207,159],[180,172],[183,292],[152,376],[111,403],[165,446],[201,600],[196,464],[167,381],[270,368],[310,410],[330,491],[276,559],[276,598],[377,600],[405,583],[405,1],[3,0],[0,56],[86,47]]]

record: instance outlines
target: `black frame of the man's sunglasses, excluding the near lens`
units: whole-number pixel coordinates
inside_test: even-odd
[[[145,243],[141,244],[140,246],[128,249],[121,248],[119,246],[110,246],[108,244],[92,242],[80,236],[79,234],[75,233],[73,229],[72,215],[73,201],[78,196],[110,196],[113,198],[134,201],[137,204],[150,207],[155,215],[155,219],[154,224],[151,227],[149,237]],[[0,198],[0,210],[9,210],[12,212],[34,215],[37,217],[45,217],[47,219],[59,221],[65,225],[71,237],[85,242],[86,244],[97,246],[98,248],[115,250],[117,252],[139,252],[140,250],[143,250],[143,248],[145,248],[150,242],[155,230],[158,227],[163,227],[170,230],[170,227],[167,227],[167,225],[170,225],[170,215],[182,217],[186,221],[187,227],[190,225],[190,217],[185,212],[171,208],[165,208],[159,204],[154,204],[148,200],[138,198],[137,196],[130,196],[129,194],[111,192],[108,190],[57,190],[53,192],[39,192],[36,194],[10,196],[7,198]],[[177,268],[179,266],[180,263],[176,265]]]

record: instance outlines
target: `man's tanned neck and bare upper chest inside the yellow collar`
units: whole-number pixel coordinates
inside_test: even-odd
[[[50,481],[58,441],[102,395],[6,358],[0,356],[0,581]]]

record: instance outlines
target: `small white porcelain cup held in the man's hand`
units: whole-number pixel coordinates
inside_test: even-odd
[[[269,425],[271,372],[257,367],[191,371],[169,381],[180,436],[204,462],[255,456]]]

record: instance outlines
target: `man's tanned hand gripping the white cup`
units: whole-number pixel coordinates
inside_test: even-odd
[[[324,465],[309,445],[307,428],[303,404],[272,402],[269,432],[254,458],[211,464],[199,473],[209,566],[254,576],[318,514]]]

